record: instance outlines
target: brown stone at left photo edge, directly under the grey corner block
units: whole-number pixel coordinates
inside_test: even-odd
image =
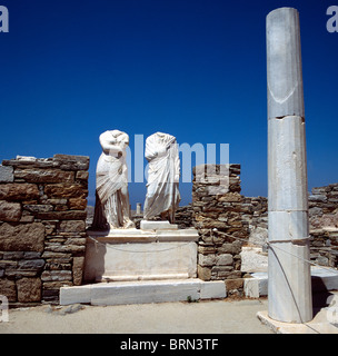
[[[0,200],[30,200],[39,198],[39,189],[33,184],[9,182],[0,185]]]

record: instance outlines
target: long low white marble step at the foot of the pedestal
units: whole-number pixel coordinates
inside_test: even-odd
[[[222,280],[203,281],[198,278],[189,278],[113,281],[61,287],[60,305],[76,303],[91,305],[148,304],[189,299],[220,299],[226,296],[226,284]]]

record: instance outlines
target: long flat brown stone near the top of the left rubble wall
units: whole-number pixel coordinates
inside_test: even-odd
[[[74,172],[61,169],[16,169],[14,178],[24,179],[28,182],[71,182],[74,180]]]

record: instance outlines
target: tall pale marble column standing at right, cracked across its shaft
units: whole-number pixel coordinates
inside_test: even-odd
[[[312,319],[299,14],[267,16],[269,317]]]

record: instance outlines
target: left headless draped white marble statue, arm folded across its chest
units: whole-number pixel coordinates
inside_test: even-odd
[[[93,229],[135,227],[130,220],[126,148],[129,136],[119,130],[100,135]]]

